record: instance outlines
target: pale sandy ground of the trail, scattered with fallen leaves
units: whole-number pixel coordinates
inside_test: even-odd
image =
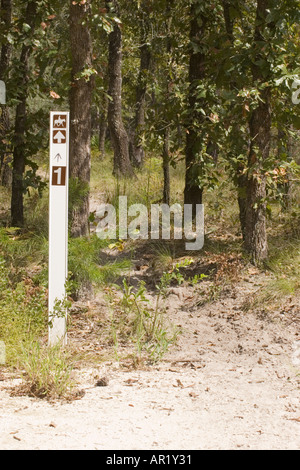
[[[183,330],[177,345],[138,370],[114,362],[78,370],[81,399],[11,396],[18,380],[2,377],[0,448],[299,450],[299,299],[272,317],[245,311],[264,282],[250,268],[203,306],[195,288],[172,289],[168,316]],[[103,376],[106,386],[96,386]]]

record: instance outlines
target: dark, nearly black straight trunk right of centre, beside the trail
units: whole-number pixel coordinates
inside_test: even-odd
[[[202,204],[203,188],[199,182],[201,176],[201,165],[197,161],[197,155],[202,146],[202,136],[199,129],[195,128],[194,122],[199,125],[203,121],[203,116],[196,110],[199,104],[196,97],[196,86],[199,80],[205,76],[205,54],[200,51],[196,45],[201,43],[203,39],[206,18],[197,11],[198,3],[193,2],[191,5],[191,29],[190,29],[190,62],[189,62],[189,121],[187,123],[186,137],[186,173],[185,173],[185,189],[184,203],[192,204],[193,214],[195,215],[196,204]]]

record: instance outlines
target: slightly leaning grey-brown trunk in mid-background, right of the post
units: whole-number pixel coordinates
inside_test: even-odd
[[[113,4],[118,15],[118,2]],[[133,169],[129,158],[129,140],[122,119],[122,32],[118,23],[109,35],[108,57],[109,90],[111,97],[108,105],[108,125],[114,150],[114,174],[116,176],[133,176]]]

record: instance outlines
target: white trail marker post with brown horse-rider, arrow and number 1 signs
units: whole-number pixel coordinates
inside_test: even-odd
[[[67,342],[67,312],[54,310],[66,297],[68,277],[69,113],[50,114],[49,345]]]

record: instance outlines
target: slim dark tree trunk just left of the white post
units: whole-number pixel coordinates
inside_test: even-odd
[[[28,2],[25,23],[30,26],[30,35],[34,34],[37,14],[37,2]],[[12,174],[12,197],[11,197],[11,224],[15,227],[22,227],[24,224],[24,182],[25,171],[25,139],[26,139],[26,112],[27,95],[29,82],[29,58],[32,52],[31,44],[23,44],[20,56],[20,82],[18,84],[19,104],[16,109],[15,131],[13,139],[13,174]]]

